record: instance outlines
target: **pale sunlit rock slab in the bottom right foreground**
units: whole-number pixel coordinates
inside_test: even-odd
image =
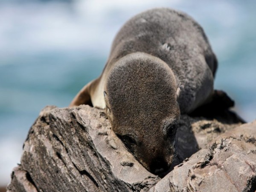
[[[176,166],[150,192],[255,190],[256,121],[221,134]]]

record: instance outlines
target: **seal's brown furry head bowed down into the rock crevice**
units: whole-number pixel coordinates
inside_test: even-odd
[[[180,118],[170,67],[146,53],[126,55],[111,70],[105,90],[106,113],[116,135],[148,171],[169,169]]]

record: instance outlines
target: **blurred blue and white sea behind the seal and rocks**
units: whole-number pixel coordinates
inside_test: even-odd
[[[102,72],[122,24],[154,7],[201,24],[218,57],[215,89],[246,121],[256,119],[256,1],[0,0],[0,186],[40,110],[68,106]]]

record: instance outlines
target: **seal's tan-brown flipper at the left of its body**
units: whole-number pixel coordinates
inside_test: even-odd
[[[98,85],[99,79],[95,79],[90,81],[87,85],[85,85],[79,93],[75,96],[73,101],[70,103],[70,107],[79,106],[79,105],[90,105],[93,106],[91,101],[91,96]]]

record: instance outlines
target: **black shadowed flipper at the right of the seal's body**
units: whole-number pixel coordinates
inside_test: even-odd
[[[213,119],[230,119],[231,122],[244,122],[236,113],[229,110],[235,102],[221,90],[214,90],[211,101],[195,109],[190,116],[204,116]]]

